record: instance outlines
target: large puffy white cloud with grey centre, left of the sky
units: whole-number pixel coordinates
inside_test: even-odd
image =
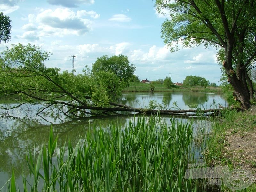
[[[27,31],[37,31],[33,37],[52,37],[65,35],[83,35],[91,30],[92,21],[81,18],[81,13],[75,13],[65,8],[55,10],[41,10],[38,15],[29,14],[28,24],[23,25],[22,29],[26,32],[17,38],[28,38]],[[88,15],[97,17],[95,12],[87,12]],[[32,38],[36,39],[37,38]]]

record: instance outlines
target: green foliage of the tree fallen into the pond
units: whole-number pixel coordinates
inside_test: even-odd
[[[40,102],[45,108],[59,105],[62,110],[67,106],[66,110],[76,115],[78,110],[109,106],[128,86],[127,79],[120,79],[111,71],[94,71],[92,75],[85,66],[84,74],[75,76],[68,71],[60,72],[60,68],[47,68],[44,62],[49,54],[31,44],[12,45],[2,52],[0,97],[18,95],[25,103]]]

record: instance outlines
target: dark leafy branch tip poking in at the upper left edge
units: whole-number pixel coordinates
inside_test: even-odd
[[[4,16],[3,12],[0,12],[0,43],[5,43],[11,39],[11,20],[8,16]]]

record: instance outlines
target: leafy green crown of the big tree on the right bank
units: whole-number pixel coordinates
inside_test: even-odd
[[[256,14],[253,1],[224,1],[223,10],[220,10],[218,1],[165,1],[156,0],[156,9],[160,13],[168,10],[170,20],[162,24],[162,38],[172,51],[177,49],[173,41],[182,42],[184,46],[204,44],[206,47],[214,45],[221,49],[228,41],[225,30],[245,29],[245,46],[255,47],[255,44],[247,44],[254,41],[255,25],[253,19]],[[221,11],[225,11],[221,15]],[[165,13],[164,13],[165,14]],[[222,19],[226,18],[225,23]],[[236,22],[236,26],[233,26]],[[245,22],[246,21],[246,22]],[[228,26],[225,26],[227,25]],[[226,27],[226,28],[225,28]],[[254,34],[254,35],[253,35]],[[239,33],[235,35],[240,35]],[[244,37],[245,37],[244,36]],[[237,41],[237,39],[236,39]],[[252,43],[252,42],[251,42]],[[237,44],[236,46],[240,46]]]

